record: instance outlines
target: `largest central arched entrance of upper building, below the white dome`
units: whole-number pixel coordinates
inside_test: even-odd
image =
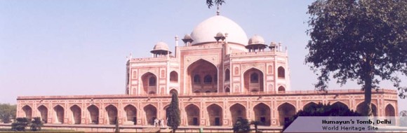
[[[204,59],[187,68],[187,92],[218,92],[218,69]],[[189,88],[188,88],[189,87]]]

